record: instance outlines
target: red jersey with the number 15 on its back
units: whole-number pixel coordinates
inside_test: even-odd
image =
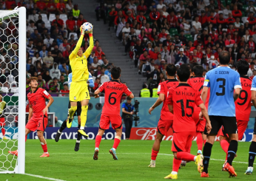
[[[176,87],[168,90],[166,104],[173,106],[173,131],[195,132],[195,120],[192,115],[194,107],[203,103],[198,90],[189,86],[188,83],[179,83]]]

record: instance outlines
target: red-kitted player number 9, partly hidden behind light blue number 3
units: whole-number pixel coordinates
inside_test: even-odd
[[[251,113],[252,79],[250,79],[247,76],[247,72],[249,70],[249,64],[247,61],[238,61],[236,66],[238,69],[238,73],[240,74],[240,83],[242,86],[242,90],[240,91],[238,100],[235,101],[235,116],[238,125],[238,140],[242,140],[243,133],[246,131]],[[220,146],[223,149],[223,151],[226,152],[227,160],[227,152],[229,149],[229,135],[226,134],[225,129],[223,129],[223,127],[221,127],[220,129]],[[223,165],[223,170],[225,163]]]

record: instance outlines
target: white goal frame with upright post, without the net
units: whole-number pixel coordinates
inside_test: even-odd
[[[25,173],[25,124],[26,124],[26,8],[1,10],[0,16],[18,14],[18,160],[14,171],[0,171],[0,174]]]

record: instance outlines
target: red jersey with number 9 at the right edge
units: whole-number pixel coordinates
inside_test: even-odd
[[[239,98],[235,101],[235,115],[237,120],[249,120],[251,113],[251,87],[252,79],[248,76],[240,75],[242,90]]]

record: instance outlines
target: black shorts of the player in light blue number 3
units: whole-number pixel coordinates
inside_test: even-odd
[[[212,124],[212,130],[210,134],[218,134],[220,127],[223,126],[225,134],[238,133],[237,120],[235,117],[226,116],[209,116]]]

